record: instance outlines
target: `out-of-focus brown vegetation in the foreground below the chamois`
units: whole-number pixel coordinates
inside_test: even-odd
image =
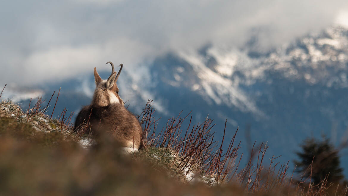
[[[73,135],[44,133],[0,117],[0,195],[242,194],[232,187],[188,185],[171,175],[169,163],[116,149],[107,139],[85,149]]]

